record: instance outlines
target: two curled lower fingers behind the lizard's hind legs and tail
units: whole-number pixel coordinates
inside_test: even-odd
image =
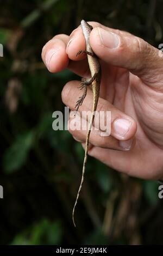
[[[66,106],[70,107],[70,109],[74,110],[74,106],[78,97],[81,96],[82,92],[77,88],[79,86],[78,81],[71,81],[66,84],[64,89],[62,90],[62,101]],[[79,108],[80,117],[87,120],[87,116],[84,114],[85,111],[92,111],[92,92],[91,89],[87,89],[87,96],[83,102],[83,105]],[[101,131],[103,130],[103,126],[100,127],[101,131],[92,130],[92,136],[90,142],[95,144],[97,147],[105,147],[105,148],[116,148],[116,149],[129,149],[131,146],[131,142],[126,142],[132,139],[136,132],[136,123],[135,121],[129,117],[127,114],[124,114],[119,109],[111,105],[108,101],[99,98],[97,112],[99,114],[104,113],[104,120],[106,120],[107,111],[111,112],[111,136],[107,136],[104,138],[101,136]],[[89,117],[90,118],[90,117]],[[94,126],[98,129],[98,117],[95,115]],[[82,122],[81,122],[82,123]],[[79,140],[84,140],[86,136],[86,131],[84,130],[74,130],[71,131],[74,137],[77,137]],[[112,137],[112,138],[111,138]],[[123,141],[124,143],[120,143],[119,141]],[[125,144],[125,145],[124,145]]]

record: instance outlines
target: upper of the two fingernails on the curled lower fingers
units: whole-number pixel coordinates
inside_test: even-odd
[[[113,123],[114,131],[117,133],[117,135],[120,135],[121,137],[124,137],[126,133],[129,131],[131,126],[131,121],[127,119],[116,119]]]

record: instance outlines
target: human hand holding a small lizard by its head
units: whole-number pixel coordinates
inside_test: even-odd
[[[127,32],[104,27],[96,22],[90,34],[93,52],[102,68],[101,93],[97,111],[111,111],[111,136],[91,131],[89,155],[108,166],[144,179],[163,177],[163,62],[159,50]],[[82,29],[70,36],[60,34],[47,42],[42,59],[48,70],[66,68],[89,77]],[[74,110],[81,91],[79,81],[68,82],[62,90],[62,101]],[[92,92],[79,112],[92,110]],[[78,141],[85,141],[86,131],[72,131]],[[83,143],[84,145],[84,143]]]

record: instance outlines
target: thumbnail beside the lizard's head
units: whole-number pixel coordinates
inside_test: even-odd
[[[105,31],[105,29],[98,28],[101,43],[108,48],[117,48],[120,45],[120,37],[112,32]]]

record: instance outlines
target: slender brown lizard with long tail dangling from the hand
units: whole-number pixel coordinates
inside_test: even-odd
[[[90,33],[91,33],[91,30],[93,29],[93,27],[91,25],[89,25],[84,20],[81,21],[81,26],[82,26],[82,32],[83,32],[85,42],[86,42],[86,51],[79,51],[77,53],[77,56],[81,53],[86,53],[87,54],[87,60],[88,60],[89,68],[90,68],[90,71],[91,71],[91,78],[88,78],[88,79],[82,78],[80,88],[84,89],[84,93],[81,97],[79,97],[79,100],[76,103],[76,110],[78,111],[79,106],[82,105],[82,103],[85,99],[85,96],[86,96],[87,86],[89,86],[90,84],[92,84],[93,107],[92,107],[92,115],[91,115],[91,119],[90,119],[90,123],[89,123],[89,128],[87,130],[87,135],[86,135],[85,156],[84,156],[84,163],[83,163],[82,180],[80,182],[80,187],[79,187],[79,190],[78,190],[76,202],[74,204],[73,212],[72,212],[72,220],[73,220],[73,224],[74,224],[75,227],[76,227],[76,224],[74,222],[74,210],[76,208],[78,198],[79,198],[79,194],[80,194],[80,191],[82,190],[82,185],[83,185],[83,181],[84,181],[84,174],[85,174],[85,168],[86,168],[90,132],[91,132],[93,120],[95,118],[95,111],[96,111],[96,108],[97,108],[97,103],[98,103],[98,98],[99,98],[99,88],[100,88],[100,84],[101,84],[101,66],[99,64],[99,60],[98,60],[97,56],[92,51],[92,48],[90,46],[90,40],[89,40]]]

